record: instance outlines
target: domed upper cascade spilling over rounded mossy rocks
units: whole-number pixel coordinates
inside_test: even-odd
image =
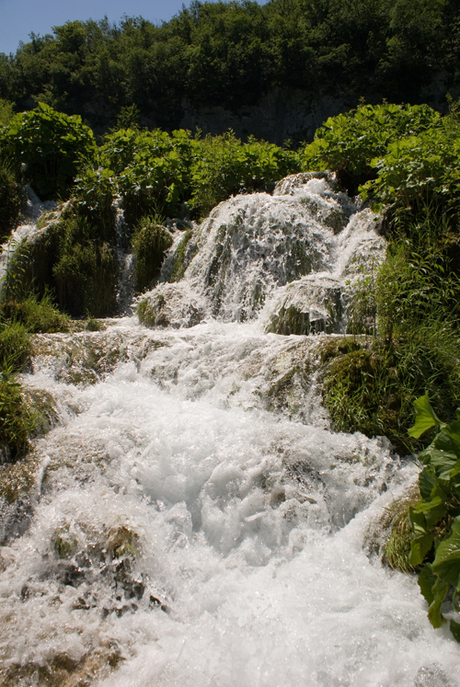
[[[196,233],[181,285],[159,285],[143,300],[156,325],[172,298],[178,315],[166,321],[174,326],[206,317],[244,322],[265,306],[270,331],[341,332],[347,300],[383,259],[378,229],[378,217],[336,193],[333,179],[294,175],[273,196],[240,195],[218,205]],[[200,307],[190,319],[192,301]]]

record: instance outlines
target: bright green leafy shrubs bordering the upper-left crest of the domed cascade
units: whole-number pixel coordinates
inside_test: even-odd
[[[300,171],[296,153],[271,143],[242,143],[232,132],[200,139],[183,129],[115,131],[104,139],[101,165],[131,226],[155,213],[204,217],[232,194],[265,190]]]

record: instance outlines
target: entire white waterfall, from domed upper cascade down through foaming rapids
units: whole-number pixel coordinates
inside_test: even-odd
[[[8,468],[0,684],[458,684],[415,577],[366,551],[416,466],[329,430],[325,334],[264,333],[308,282],[327,328],[328,280],[346,291],[383,250],[368,211],[313,181],[212,213],[184,280],[146,296],[172,299],[173,326],[36,337],[24,381],[59,423]]]

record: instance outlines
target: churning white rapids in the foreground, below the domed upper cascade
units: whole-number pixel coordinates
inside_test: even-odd
[[[133,320],[105,336],[128,353],[98,384],[60,381],[49,359],[29,378],[67,411],[36,446],[29,530],[2,548],[5,670],[115,651],[100,687],[456,684],[458,647],[416,580],[363,550],[415,466],[257,403],[267,368],[312,338]],[[123,533],[132,551],[111,559]]]

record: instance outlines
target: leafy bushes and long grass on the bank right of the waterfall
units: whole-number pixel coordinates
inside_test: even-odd
[[[352,304],[355,338],[323,353],[325,404],[337,429],[384,434],[403,452],[420,447],[407,439],[418,396],[428,390],[446,417],[460,402],[459,166],[447,155],[458,142],[456,107],[441,117],[427,106],[363,105],[329,119],[303,151],[307,167],[332,168],[383,210],[388,239]]]

